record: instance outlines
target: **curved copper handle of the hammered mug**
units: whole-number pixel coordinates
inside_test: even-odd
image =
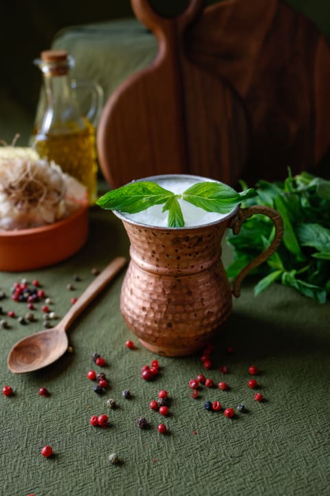
[[[245,276],[247,276],[248,273],[252,271],[252,269],[265,262],[267,258],[270,258],[270,256],[274,254],[274,251],[276,251],[278,245],[280,245],[283,238],[283,220],[280,214],[278,214],[278,211],[276,211],[275,209],[266,207],[265,205],[252,205],[252,207],[246,207],[242,209],[240,208],[236,216],[234,216],[232,222],[230,223],[229,227],[232,229],[232,232],[234,234],[239,234],[241,225],[243,224],[244,220],[254,214],[263,214],[272,219],[275,226],[275,237],[270,246],[265,251],[263,251],[262,254],[254,258],[252,262],[248,263],[248,265],[246,265],[236,276],[234,284],[232,286],[232,294],[236,296],[236,298],[238,298],[241,294],[241,283]]]

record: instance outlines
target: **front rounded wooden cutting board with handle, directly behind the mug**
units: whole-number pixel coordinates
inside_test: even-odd
[[[131,0],[157,37],[153,64],[126,79],[107,101],[98,126],[100,168],[111,187],[155,174],[197,174],[235,183],[248,150],[248,123],[239,94],[189,60],[186,34],[202,0],[175,19],[147,0]]]

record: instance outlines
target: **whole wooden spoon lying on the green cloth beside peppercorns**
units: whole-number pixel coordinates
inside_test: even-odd
[[[13,373],[25,373],[50,365],[67,350],[66,331],[96,295],[115,277],[126,264],[126,258],[115,258],[85,289],[76,303],[52,329],[34,333],[21,339],[8,354],[8,368]]]

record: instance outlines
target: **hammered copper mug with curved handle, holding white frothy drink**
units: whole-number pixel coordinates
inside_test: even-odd
[[[152,176],[208,180],[199,176]],[[267,260],[283,238],[283,222],[270,207],[236,207],[217,222],[196,227],[155,227],[118,216],[131,242],[131,261],[122,283],[120,309],[141,344],[164,356],[190,355],[204,347],[232,311],[232,294],[241,282]],[[230,287],[221,262],[225,229],[239,234],[243,220],[264,214],[275,226],[274,240],[263,254],[241,270]]]

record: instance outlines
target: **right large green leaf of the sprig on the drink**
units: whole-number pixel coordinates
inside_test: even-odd
[[[237,193],[228,185],[210,181],[192,185],[182,194],[182,198],[195,207],[219,214],[228,214],[241,201],[253,196],[256,196],[253,188]]]

